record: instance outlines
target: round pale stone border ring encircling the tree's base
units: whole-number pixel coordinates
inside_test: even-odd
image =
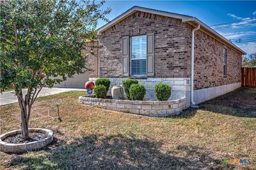
[[[4,139],[6,139],[6,137],[21,134],[21,130],[13,130],[11,132],[7,132],[5,134],[0,135],[0,150],[6,153],[20,153],[24,151],[38,150],[40,148],[44,148],[47,144],[52,142],[53,133],[51,130],[47,130],[45,128],[29,128],[29,132],[34,131],[47,134],[47,137],[45,139],[29,143],[5,143]]]

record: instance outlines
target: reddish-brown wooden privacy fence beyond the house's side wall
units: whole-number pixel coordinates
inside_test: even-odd
[[[256,68],[241,68],[242,72],[242,86],[256,87]]]

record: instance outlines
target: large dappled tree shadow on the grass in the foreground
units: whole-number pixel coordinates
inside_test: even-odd
[[[25,169],[219,169],[221,160],[212,151],[196,146],[178,146],[163,151],[163,143],[132,135],[86,135],[73,143],[45,150],[44,155],[19,155],[10,167]]]

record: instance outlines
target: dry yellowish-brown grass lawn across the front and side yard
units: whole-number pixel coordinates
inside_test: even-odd
[[[0,169],[256,169],[256,89],[232,93],[180,116],[151,118],[81,105],[84,91],[38,98],[30,127],[54,142],[24,154],[1,152]],[[60,104],[59,121],[56,106]],[[19,128],[18,104],[1,107],[1,134]],[[223,164],[246,158],[252,164]]]

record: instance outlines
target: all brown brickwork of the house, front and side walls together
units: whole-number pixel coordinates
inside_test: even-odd
[[[191,31],[193,27],[179,19],[135,12],[99,36],[99,76],[123,77],[122,37],[155,35],[155,75],[157,77],[190,77]],[[195,32],[194,89],[241,82],[241,54],[227,48],[227,77],[223,76],[225,45],[204,32]],[[88,62],[90,77],[98,77],[98,58]],[[124,77],[123,77],[124,78]]]

